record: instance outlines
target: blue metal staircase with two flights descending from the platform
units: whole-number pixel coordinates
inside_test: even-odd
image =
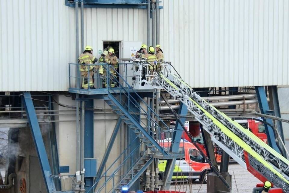
[[[160,136],[163,136],[164,133],[167,133],[166,136],[172,136],[175,130],[170,129],[160,119],[154,110],[150,108],[112,66],[104,66],[104,68],[110,68],[107,72],[113,69],[120,81],[114,78],[112,80],[107,74],[108,88],[106,89],[108,92],[103,95],[103,99],[122,119],[130,131],[134,132],[137,136],[134,140],[131,140],[131,144],[104,171],[101,177],[96,179],[96,182],[88,191],[111,193],[120,191],[123,185],[131,187],[150,166],[154,157],[172,159],[182,155],[172,152],[171,148],[168,148],[168,144],[165,144],[164,140],[160,139]],[[109,86],[110,81],[116,82],[116,87],[111,88]],[[152,113],[154,118],[152,117]],[[154,128],[153,131],[151,130],[152,127]],[[139,141],[137,147],[135,147],[135,140]],[[179,142],[175,141],[171,143]],[[113,170],[115,165],[118,165],[118,167]],[[104,183],[98,183],[102,182],[101,180],[104,180]]]

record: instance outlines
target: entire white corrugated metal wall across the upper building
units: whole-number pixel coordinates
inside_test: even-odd
[[[161,4],[165,59],[192,87],[289,84],[288,0]],[[0,11],[0,91],[68,90],[74,8],[64,0],[1,0]],[[85,8],[85,44],[146,42],[146,16],[144,9]]]

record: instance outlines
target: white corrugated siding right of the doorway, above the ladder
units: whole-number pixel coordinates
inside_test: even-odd
[[[289,84],[287,0],[163,0],[160,43],[193,87]]]

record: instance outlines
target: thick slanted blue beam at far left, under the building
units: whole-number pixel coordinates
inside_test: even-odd
[[[51,169],[30,92],[24,92],[23,101],[45,186],[47,192],[52,193],[53,191],[56,191],[56,189],[51,177]]]

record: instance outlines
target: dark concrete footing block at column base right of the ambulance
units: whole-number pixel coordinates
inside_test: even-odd
[[[227,172],[222,173],[222,176],[232,187],[232,175]],[[207,193],[220,193],[229,192],[228,188],[225,187],[223,182],[217,177],[215,173],[210,173],[207,175]]]

